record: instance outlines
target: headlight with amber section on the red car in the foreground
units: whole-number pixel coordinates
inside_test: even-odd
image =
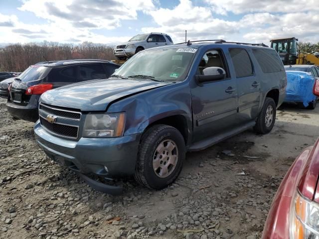
[[[291,239],[319,239],[319,206],[299,192],[290,213]]]

